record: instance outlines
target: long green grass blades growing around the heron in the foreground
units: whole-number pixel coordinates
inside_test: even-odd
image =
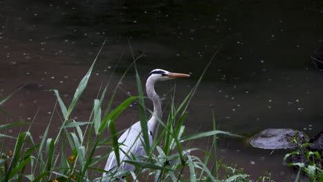
[[[173,102],[170,104],[168,119],[164,123],[160,121],[159,136],[155,136],[151,148],[148,145],[148,133],[144,130],[146,151],[151,151],[148,152],[147,160],[144,162],[135,159],[126,161],[136,166],[136,172],[121,171],[102,179],[101,174],[104,172],[104,166],[99,164],[105,163],[110,152],[115,152],[117,155],[119,145],[122,145],[117,142],[117,136],[122,131],[117,132],[115,129],[115,121],[119,114],[130,103],[136,101],[139,103],[141,125],[145,128],[147,127],[146,114],[150,115],[152,112],[144,105],[145,97],[141,89],[139,75],[136,72],[138,96],[129,96],[117,107],[111,108],[115,101],[117,88],[109,98],[106,98],[106,91],[109,86],[109,83],[107,83],[100,97],[93,99],[93,108],[88,121],[80,122],[71,119],[70,114],[86,88],[95,61],[80,81],[68,106],[59,96],[58,90],[51,90],[55,92],[57,97],[59,107],[55,107],[55,110],[59,111],[62,120],[57,136],[48,135],[51,120],[48,121],[48,127],[43,131],[40,142],[35,142],[35,137],[30,133],[33,123],[17,122],[0,125],[0,131],[3,133],[0,134],[1,181],[113,181],[117,176],[126,176],[122,179],[124,181],[151,181],[152,179],[154,181],[249,181],[249,176],[244,174],[242,170],[236,170],[218,161],[216,155],[217,134],[235,135],[216,130],[214,118],[213,130],[197,134],[185,134],[186,109],[203,75],[182,103],[175,104],[174,95],[172,96]],[[121,80],[123,77],[121,77]],[[0,101],[0,105],[11,96]],[[108,106],[103,110],[102,103],[104,101],[108,101]],[[17,136],[4,134],[8,128],[20,127],[21,125],[29,125],[29,129],[20,132]],[[188,148],[188,143],[192,143],[195,139],[201,137],[211,137],[213,143],[208,150]],[[14,139],[16,142],[13,150],[6,148],[5,143],[8,139]],[[163,147],[161,148],[160,145]],[[100,149],[108,152],[97,154],[97,150]],[[205,157],[199,158],[194,155],[195,152],[202,152]],[[222,172],[221,175],[220,171]],[[270,174],[260,177],[259,181],[271,181]]]

